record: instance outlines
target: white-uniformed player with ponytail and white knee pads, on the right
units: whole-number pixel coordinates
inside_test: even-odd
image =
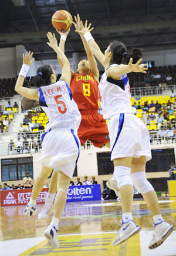
[[[131,56],[127,56],[126,46],[119,41],[111,42],[103,54],[90,34],[93,28],[89,28],[86,21],[79,32],[84,34],[94,56],[105,69],[99,83],[99,99],[104,118],[110,118],[108,129],[111,160],[114,163],[114,177],[120,188],[123,211],[121,228],[113,245],[120,244],[140,231],[131,214],[134,184],[143,194],[153,215],[154,236],[148,246],[153,249],[164,242],[174,227],[163,220],[157,195],[145,177],[145,162],[151,159],[150,137],[143,121],[134,115],[134,108],[130,104],[127,73],[146,73],[147,68],[141,64],[140,49],[134,48]]]

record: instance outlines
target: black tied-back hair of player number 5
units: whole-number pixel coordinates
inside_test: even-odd
[[[53,69],[50,65],[43,65],[36,71],[35,77],[29,82],[29,85],[42,87],[51,83],[50,76],[53,74]]]

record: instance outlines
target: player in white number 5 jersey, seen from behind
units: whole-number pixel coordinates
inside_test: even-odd
[[[42,134],[42,170],[36,177],[32,197],[26,206],[25,215],[32,216],[36,210],[36,198],[42,191],[46,179],[52,169],[58,175],[57,195],[54,203],[54,213],[52,222],[45,231],[45,237],[54,248],[59,247],[57,230],[59,218],[65,207],[67,189],[73,176],[73,171],[79,157],[80,141],[77,137],[81,115],[75,101],[72,99],[70,84],[70,64],[65,54],[57,46],[55,34],[48,32],[49,42],[47,43],[54,49],[57,59],[63,63],[62,76],[56,82],[55,71],[49,66],[44,65],[36,71],[37,75],[32,79],[32,84],[39,89],[29,89],[22,87],[24,78],[31,66],[32,54],[23,55],[23,65],[16,81],[15,91],[29,99],[40,102],[40,106],[48,115],[49,123],[46,125],[46,132]]]

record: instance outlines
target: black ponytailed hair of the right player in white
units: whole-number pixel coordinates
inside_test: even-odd
[[[142,51],[140,48],[133,47],[133,52],[128,55],[126,46],[120,41],[113,41],[110,43],[109,51],[113,53],[111,64],[128,64],[130,58],[133,58],[133,64],[142,57]]]

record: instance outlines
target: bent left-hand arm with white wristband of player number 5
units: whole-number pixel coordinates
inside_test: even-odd
[[[23,87],[25,76],[28,73],[32,62],[34,61],[34,58],[32,59],[32,55],[33,52],[31,53],[31,51],[29,51],[29,53],[26,52],[25,55],[23,54],[23,65],[21,71],[19,72],[19,77],[16,81],[15,91],[28,99],[35,99],[36,101],[39,101],[38,89],[29,89]]]

